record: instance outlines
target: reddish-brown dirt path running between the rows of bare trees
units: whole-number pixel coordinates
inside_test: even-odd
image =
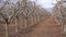
[[[22,34],[24,30],[19,30],[18,34],[12,34],[10,37],[62,37],[61,26],[56,23],[54,16],[42,20],[37,26],[30,27],[29,29],[26,29],[29,30],[26,34]],[[4,37],[4,34],[0,34],[0,37]]]

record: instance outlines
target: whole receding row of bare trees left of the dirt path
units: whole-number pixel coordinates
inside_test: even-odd
[[[12,18],[15,18],[15,33],[18,33],[20,25],[20,28],[23,29],[22,33],[26,33],[28,28],[37,25],[42,18],[44,20],[51,14],[29,0],[18,0],[16,3],[6,0],[0,8],[0,15],[6,22],[6,37],[9,37],[9,24]]]

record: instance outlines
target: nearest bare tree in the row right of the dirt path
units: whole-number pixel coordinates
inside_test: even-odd
[[[54,7],[53,15],[56,17],[57,23],[62,26],[62,33],[64,33],[64,26],[66,25],[66,1],[58,1]]]

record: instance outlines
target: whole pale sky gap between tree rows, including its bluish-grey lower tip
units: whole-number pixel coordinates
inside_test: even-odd
[[[35,1],[35,0],[32,0]],[[57,3],[56,0],[36,0],[36,3],[42,8],[46,9],[48,12],[53,11],[53,7]]]

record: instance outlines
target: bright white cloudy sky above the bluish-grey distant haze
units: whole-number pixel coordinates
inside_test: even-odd
[[[32,0],[34,1],[34,0]],[[36,0],[36,3],[40,4],[41,7],[43,8],[53,8],[54,4],[53,3],[56,3],[56,0]]]

